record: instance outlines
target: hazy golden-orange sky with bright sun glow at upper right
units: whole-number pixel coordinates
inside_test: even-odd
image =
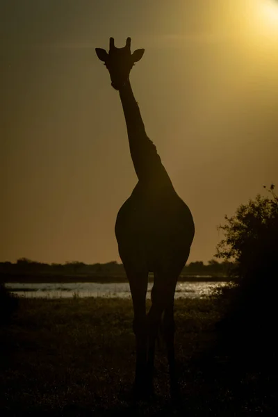
[[[95,55],[110,36],[145,48],[131,84],[193,213],[189,261],[215,254],[224,214],[278,186],[275,1],[4,1],[0,34],[0,261],[120,261],[136,175]]]

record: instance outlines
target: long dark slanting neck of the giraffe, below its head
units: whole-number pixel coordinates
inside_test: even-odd
[[[119,92],[126,120],[131,158],[139,181],[159,178],[159,181],[164,179],[164,181],[169,182],[170,178],[156,152],[156,147],[152,140],[147,137],[140,109],[129,80],[122,85]]]

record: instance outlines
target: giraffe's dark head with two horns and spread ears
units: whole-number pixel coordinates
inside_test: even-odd
[[[110,48],[107,54],[105,49],[96,48],[98,58],[104,62],[111,77],[111,85],[115,90],[120,90],[129,79],[129,73],[135,63],[143,56],[145,49],[136,49],[131,54],[131,38],[126,39],[126,46],[116,48],[114,38],[110,38]]]

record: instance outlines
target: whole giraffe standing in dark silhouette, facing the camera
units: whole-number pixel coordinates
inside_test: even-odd
[[[145,49],[131,54],[131,38],[117,48],[96,48],[120,92],[131,158],[138,183],[117,214],[115,235],[120,258],[129,280],[133,301],[133,332],[136,336],[136,377],[139,398],[153,393],[154,351],[162,324],[170,369],[171,394],[178,392],[174,360],[174,292],[189,256],[195,234],[188,206],[177,195],[153,142],[147,137],[140,109],[133,96],[129,74]],[[154,272],[152,306],[146,313],[149,272]]]

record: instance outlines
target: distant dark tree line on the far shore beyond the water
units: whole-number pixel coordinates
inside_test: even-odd
[[[204,264],[202,261],[191,262],[183,268],[183,275],[218,275],[226,276],[232,263],[215,259]],[[24,274],[24,275],[96,275],[115,276],[125,275],[122,263],[112,261],[108,263],[86,264],[79,261],[66,263],[42,263],[31,259],[20,258],[16,263],[1,262],[0,274]]]

